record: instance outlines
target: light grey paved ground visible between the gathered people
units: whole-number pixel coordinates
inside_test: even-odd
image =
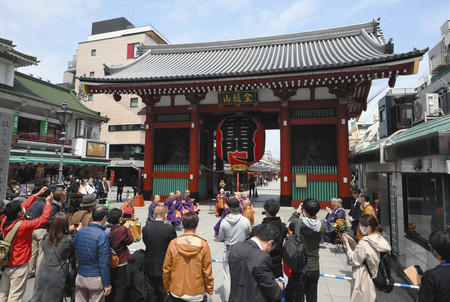
[[[264,201],[269,198],[279,198],[279,182],[271,182],[267,187],[259,187],[259,197],[253,199],[255,208],[255,224],[261,223],[264,218],[262,215]],[[126,188],[124,190],[126,192]],[[115,192],[110,194],[112,200],[115,199]],[[146,207],[136,208],[136,216],[145,224],[148,211],[148,202]],[[112,207],[119,207],[120,203],[112,203]],[[211,209],[211,211],[210,211]],[[217,223],[218,218],[213,213],[213,204],[203,202],[200,204],[200,222],[197,233],[205,238],[211,248],[211,256],[213,259],[222,259],[223,243],[214,241],[213,226]],[[280,210],[279,216],[282,221],[287,221],[293,212],[293,208],[283,207]],[[325,211],[319,213],[319,218],[325,217]],[[181,232],[178,232],[181,234]],[[334,254],[334,245],[324,245],[324,248],[320,250],[320,270],[324,274],[340,275],[351,277],[351,267],[346,264],[346,256],[341,251]],[[142,241],[135,242],[130,246],[130,249],[145,249],[145,245]],[[212,301],[224,301],[223,299],[223,270],[221,263],[213,263],[213,276],[214,276],[214,295]],[[400,282],[400,280],[398,280]],[[330,278],[320,278],[319,280],[319,302],[341,302],[349,301],[350,299],[350,281]],[[32,291],[34,286],[34,279],[30,279],[27,285],[27,292],[24,297],[24,301],[29,301],[32,297]],[[393,301],[414,301],[407,292],[406,289],[395,288],[394,291],[388,295],[385,295],[387,302]],[[413,290],[414,291],[414,290]]]

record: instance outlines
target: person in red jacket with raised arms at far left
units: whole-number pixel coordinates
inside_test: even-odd
[[[3,238],[6,237],[17,221],[22,220],[22,224],[11,242],[11,256],[9,257],[8,265],[2,273],[0,302],[21,301],[25,293],[28,280],[28,261],[31,258],[31,233],[47,222],[50,217],[53,193],[45,198],[45,207],[41,217],[34,220],[25,220],[24,213],[37,197],[46,190],[47,187],[43,187],[36,195],[31,195],[22,204],[12,201],[5,206],[3,211],[5,217],[0,227]]]

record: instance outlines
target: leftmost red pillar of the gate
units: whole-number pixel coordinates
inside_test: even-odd
[[[145,200],[150,200],[153,194],[153,159],[155,144],[155,114],[147,112],[145,121],[145,155],[144,155],[144,190]]]

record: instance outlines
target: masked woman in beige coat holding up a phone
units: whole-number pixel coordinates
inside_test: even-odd
[[[381,226],[377,219],[371,214],[365,214],[360,218],[359,229],[363,235],[362,239],[356,244],[348,234],[341,235],[341,239],[347,247],[347,260],[352,266],[353,282],[351,302],[375,302],[383,301],[382,292],[376,289],[372,277],[378,274],[378,265],[380,263],[380,253],[391,251],[391,246],[381,236]],[[354,247],[354,250],[350,247]],[[370,272],[367,270],[367,266]],[[370,275],[371,274],[371,275]]]

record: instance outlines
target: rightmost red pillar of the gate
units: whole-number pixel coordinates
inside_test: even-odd
[[[340,197],[350,197],[350,168],[348,166],[349,145],[348,145],[348,121],[347,104],[339,104],[336,108],[336,145],[338,163],[338,194]]]

